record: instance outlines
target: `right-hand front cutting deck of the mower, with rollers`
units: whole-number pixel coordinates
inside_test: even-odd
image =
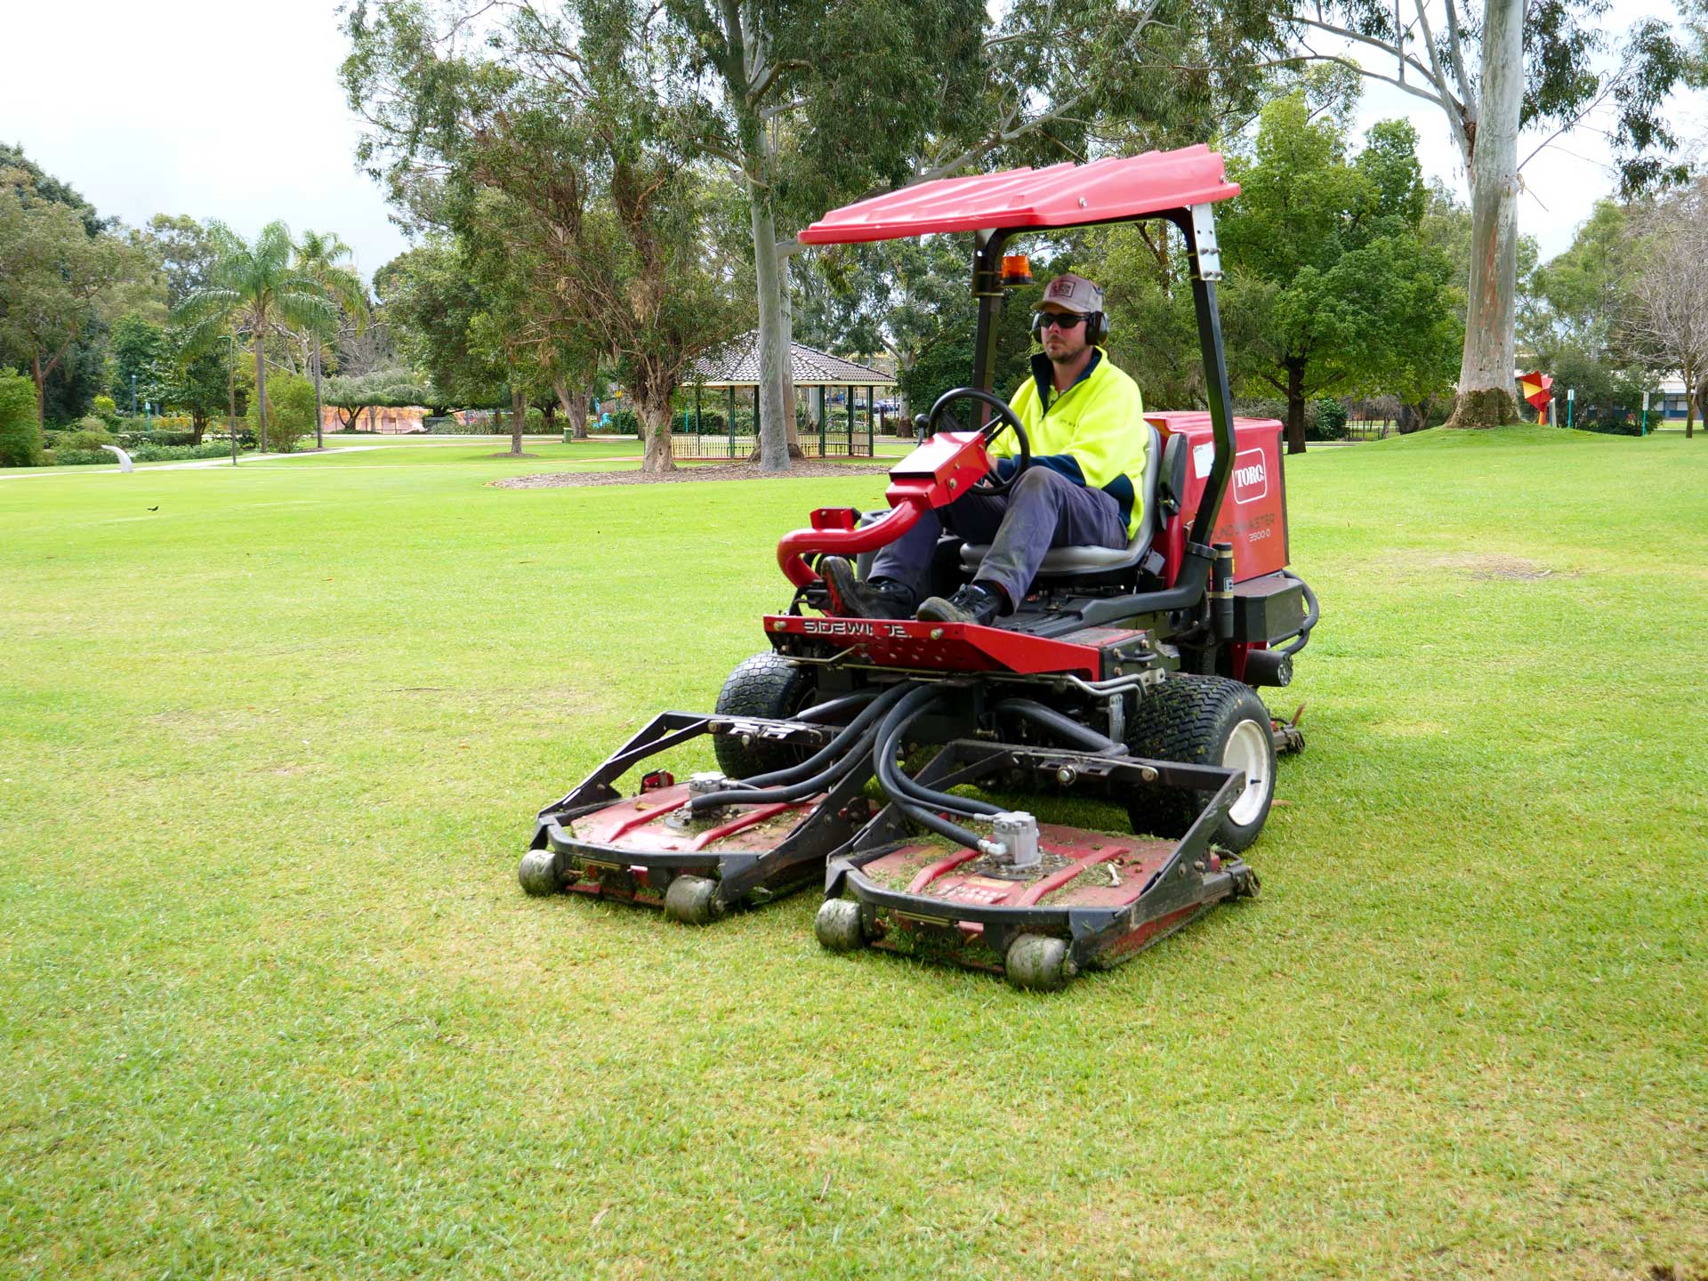
[[[1211,840],[1245,793],[1237,769],[956,740],[917,781],[1114,803],[1163,789],[1201,808],[1179,840],[1033,822],[1035,849],[1016,864],[1013,849],[991,854],[921,837],[890,804],[828,863],[815,933],[832,951],[874,945],[948,955],[1001,970],[1016,987],[1054,991],[1079,970],[1132,956],[1211,904],[1257,893],[1252,869]]]

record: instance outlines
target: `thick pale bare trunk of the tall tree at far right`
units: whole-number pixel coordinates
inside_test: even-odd
[[[1459,401],[1448,427],[1518,420],[1512,393],[1518,277],[1518,108],[1524,96],[1524,0],[1488,0],[1483,82],[1471,150],[1471,282]]]

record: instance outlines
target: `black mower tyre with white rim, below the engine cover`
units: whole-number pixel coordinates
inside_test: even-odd
[[[1264,830],[1276,791],[1276,750],[1269,709],[1243,681],[1225,676],[1170,676],[1148,690],[1127,731],[1138,757],[1185,765],[1228,765],[1245,772],[1245,793],[1228,808],[1211,840],[1240,852]],[[1144,786],[1127,804],[1134,832],[1179,839],[1211,793]]]

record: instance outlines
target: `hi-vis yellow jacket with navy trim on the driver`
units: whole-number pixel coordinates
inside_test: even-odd
[[[1059,395],[1050,359],[1042,352],[1033,355],[1032,377],[1015,391],[1008,407],[1027,429],[1032,466],[1054,468],[1076,485],[1108,494],[1120,504],[1127,538],[1132,538],[1144,514],[1138,478],[1144,475],[1144,451],[1151,439],[1144,430],[1144,401],[1139,384],[1115,369],[1102,347],[1091,352],[1091,364],[1079,381]],[[1018,453],[1013,432],[1003,432],[991,444],[996,458],[1015,458]]]

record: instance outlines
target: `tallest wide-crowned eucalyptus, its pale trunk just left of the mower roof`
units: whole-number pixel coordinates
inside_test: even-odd
[[[359,159],[417,222],[442,219],[447,142],[511,77],[536,99],[593,104],[617,70],[670,97],[688,159],[746,198],[760,328],[760,461],[786,470],[787,260],[828,207],[989,164],[1085,159],[1098,130],[1148,121],[1151,143],[1202,140],[1255,73],[1259,0],[559,0],[500,17],[461,0],[355,0],[343,82],[369,125]],[[1209,73],[1209,51],[1233,70]],[[1132,132],[1131,123],[1126,125]]]

